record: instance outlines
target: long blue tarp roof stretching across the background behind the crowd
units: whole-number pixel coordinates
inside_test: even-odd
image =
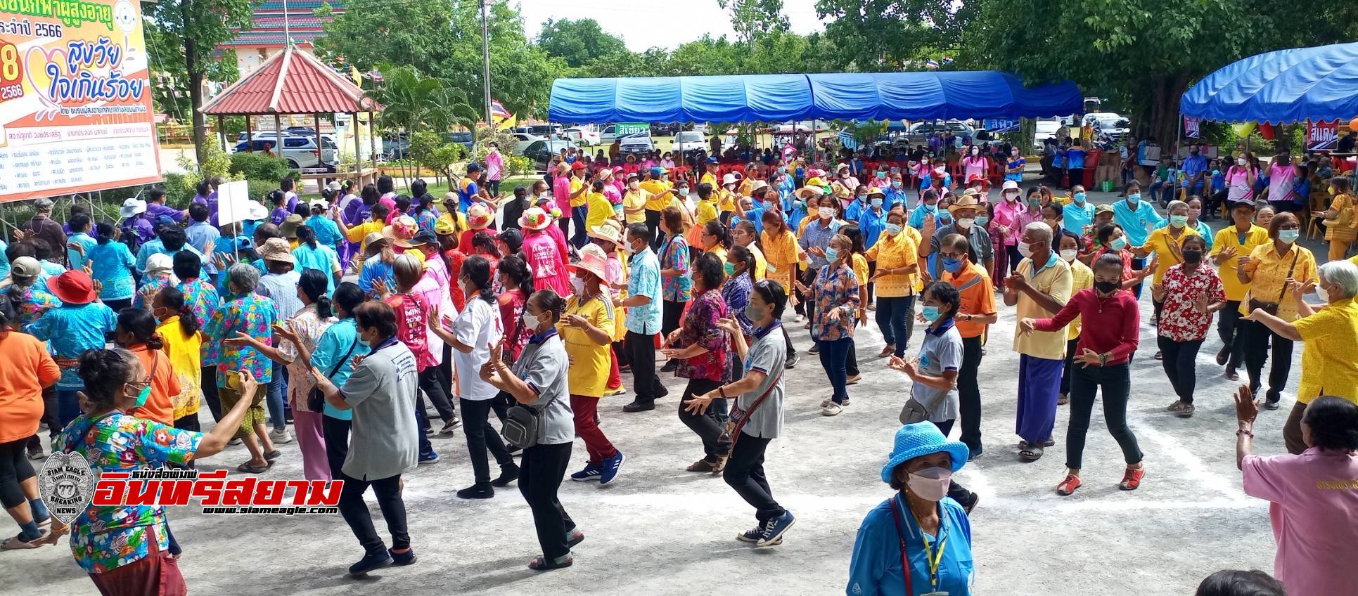
[[[1014,118],[1084,109],[1074,83],[1027,88],[1008,72],[557,79],[553,122],[782,122]]]

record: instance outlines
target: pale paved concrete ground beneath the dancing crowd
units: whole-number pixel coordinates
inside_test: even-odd
[[[1149,292],[1142,305],[1149,318]],[[1160,362],[1150,358],[1154,330],[1143,318],[1146,348],[1133,362],[1130,418],[1146,453],[1145,483],[1131,493],[1116,489],[1122,456],[1096,409],[1085,485],[1071,497],[1058,497],[1066,407],[1058,413],[1058,445],[1040,462],[1021,463],[1014,453],[1013,326],[1013,310],[1001,307],[982,362],[986,452],[957,475],[982,496],[972,515],[976,593],[1128,593],[1137,586],[1142,595],[1187,595],[1218,569],[1272,570],[1267,505],[1240,490],[1232,383],[1211,361],[1219,346],[1214,333],[1199,356],[1196,415],[1179,420],[1165,411],[1172,390]],[[809,348],[807,333],[789,327],[796,327],[799,349]],[[777,498],[799,523],[779,547],[754,550],[736,542],[737,532],[754,525],[752,509],[720,478],[683,471],[702,451],[675,418],[683,384],[669,377],[671,396],[655,411],[622,413],[630,398],[610,398],[600,407],[603,429],[627,455],[627,464],[614,486],[569,481],[562,486],[562,501],[587,535],[572,569],[535,573],[524,566],[539,550],[517,490],[502,490],[489,501],[454,496],[471,483],[458,433],[435,439],[441,463],[406,479],[416,566],[349,580],[344,570],[361,553],[340,516],[208,517],[189,506],[170,512],[185,548],[183,573],[193,591],[205,595],[842,593],[858,524],[891,493],[879,471],[909,391],[904,375],[875,358],[881,346],[876,326],[860,329],[857,343],[864,380],[850,387],[853,405],[837,418],[819,413],[830,391],[815,357],[804,354],[785,377],[786,434],[770,445],[766,468]],[[918,339],[911,350],[917,346]],[[1301,346],[1297,358],[1300,353]],[[1259,417],[1260,452],[1283,452],[1281,429],[1298,372],[1294,364],[1283,409]],[[234,447],[204,464],[234,467],[244,459],[244,449]],[[584,460],[577,441],[572,471]],[[301,478],[296,445],[284,447],[265,478]],[[65,540],[57,548],[0,554],[0,595],[95,593]]]

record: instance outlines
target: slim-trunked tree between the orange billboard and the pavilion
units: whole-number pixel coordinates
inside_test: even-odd
[[[258,0],[162,0],[143,4],[147,19],[153,22],[147,27],[148,45],[156,50],[178,50],[178,54],[158,52],[158,57],[170,62],[162,64],[162,68],[182,68],[170,72],[187,79],[198,163],[205,159],[202,144],[206,137],[206,121],[198,111],[202,107],[202,81],[209,76],[223,79],[224,68],[235,69],[235,53],[216,54],[217,46],[231,41],[236,35],[235,29],[250,29],[257,4]],[[223,57],[230,57],[230,61],[221,64]]]

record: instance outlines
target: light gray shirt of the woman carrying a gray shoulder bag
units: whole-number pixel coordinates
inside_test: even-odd
[[[513,364],[513,373],[538,392],[538,401],[528,406],[543,407],[539,445],[559,445],[576,440],[576,417],[570,411],[570,387],[566,368],[566,343],[555,330],[539,341],[534,337],[523,348]],[[550,401],[550,403],[549,403]]]

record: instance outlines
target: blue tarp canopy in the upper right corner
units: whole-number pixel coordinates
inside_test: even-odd
[[[1290,124],[1358,115],[1358,42],[1268,52],[1207,75],[1179,111],[1225,122]]]

